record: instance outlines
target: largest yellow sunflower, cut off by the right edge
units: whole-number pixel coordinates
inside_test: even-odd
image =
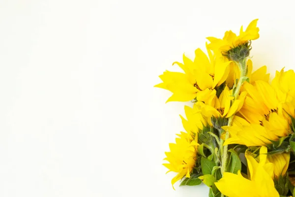
[[[223,127],[230,132],[225,144],[263,146],[271,143],[268,139],[287,136],[291,132],[289,114],[295,117],[294,78],[293,70],[282,70],[276,73],[271,85],[262,80],[253,84],[245,82],[242,90],[248,95],[239,113],[248,122],[236,117],[233,126]]]

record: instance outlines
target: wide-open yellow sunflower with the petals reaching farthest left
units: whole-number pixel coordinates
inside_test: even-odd
[[[214,88],[220,86],[228,77],[230,62],[213,55],[210,50],[207,52],[209,58],[201,49],[197,49],[194,61],[183,54],[183,64],[173,64],[177,64],[184,73],[165,71],[159,76],[163,82],[155,87],[173,93],[167,102],[190,101],[195,98],[206,103],[212,102],[216,94]]]

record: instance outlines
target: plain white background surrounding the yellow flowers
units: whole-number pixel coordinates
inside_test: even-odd
[[[256,18],[254,67],[294,68],[290,3],[0,0],[0,196],[206,197],[165,175],[185,103],[153,85]]]

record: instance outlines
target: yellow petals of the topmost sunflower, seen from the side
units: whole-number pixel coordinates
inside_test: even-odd
[[[210,41],[208,48],[214,52],[227,52],[236,46],[242,45],[249,40],[256,40],[259,38],[259,28],[257,26],[258,19],[253,20],[247,27],[246,31],[243,31],[243,26],[240,29],[240,34],[237,36],[232,31],[227,31],[224,34],[223,39],[215,37],[207,37]]]

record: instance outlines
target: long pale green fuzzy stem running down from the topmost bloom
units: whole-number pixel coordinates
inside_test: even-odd
[[[242,80],[243,77],[245,77],[247,75],[247,65],[246,65],[246,58],[241,60],[240,62],[236,62],[239,70],[240,70],[240,78],[238,80],[238,83],[236,84],[236,90],[234,92],[234,100],[237,99],[239,91],[241,89],[241,86],[244,83],[244,80]],[[231,117],[229,117],[229,122],[227,126],[231,126],[233,119],[234,119],[234,115],[233,114]],[[225,140],[227,140],[230,136],[229,131],[226,131],[225,134]],[[221,158],[221,174],[223,176],[224,172],[226,171],[226,166],[227,166],[227,162],[228,162],[228,145],[223,146],[224,141],[223,139],[220,140],[220,154],[222,155]],[[221,197],[224,197],[223,194],[221,194]]]

